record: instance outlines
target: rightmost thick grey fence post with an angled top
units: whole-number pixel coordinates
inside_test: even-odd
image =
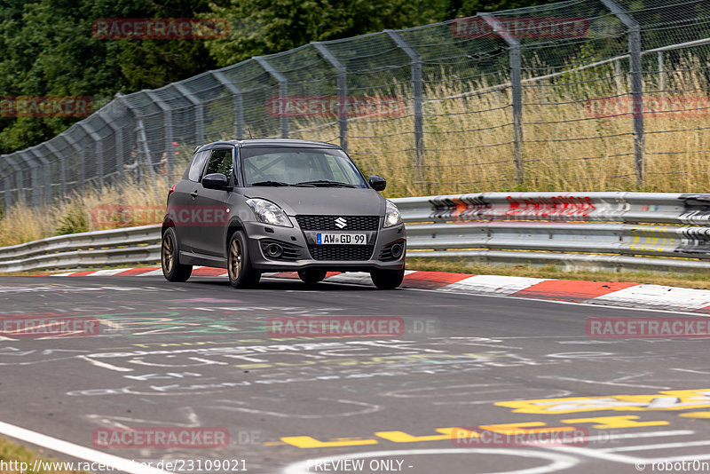
[[[631,104],[634,117],[634,163],[636,186],[643,186],[645,162],[643,159],[645,138],[643,136],[643,66],[641,62],[641,27],[631,15],[614,0],[602,3],[628,28],[628,59],[631,71]]]

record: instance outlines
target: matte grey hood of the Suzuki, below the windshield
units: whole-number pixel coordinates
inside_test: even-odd
[[[349,187],[249,187],[244,195],[278,204],[288,216],[383,216],[385,199],[374,189]]]

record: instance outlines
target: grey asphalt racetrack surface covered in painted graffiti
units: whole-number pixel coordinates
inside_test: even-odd
[[[5,333],[0,422],[126,459],[232,460],[232,468],[243,460],[236,466],[248,472],[290,474],[323,458],[349,463],[311,472],[608,473],[652,471],[652,459],[710,462],[707,339],[585,333],[590,317],[698,314],[294,280],[236,290],[202,277],[2,277],[0,298],[4,323],[99,320],[95,336]],[[405,331],[269,332],[272,318],[304,316],[390,317]],[[529,399],[561,400],[502,404]],[[576,427],[584,438],[573,446],[454,443],[446,430],[500,433],[509,427],[490,425],[507,423]],[[93,444],[96,430],[124,427],[218,428],[230,442]]]

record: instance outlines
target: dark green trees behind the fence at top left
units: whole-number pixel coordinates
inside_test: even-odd
[[[408,28],[549,0],[3,0],[0,97],[114,97],[312,41]],[[105,40],[98,19],[222,18],[225,40]],[[66,130],[80,117],[0,116],[0,154]]]

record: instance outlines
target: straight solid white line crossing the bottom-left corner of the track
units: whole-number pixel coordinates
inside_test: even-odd
[[[171,474],[168,470],[149,467],[141,462],[131,461],[130,459],[114,456],[113,454],[102,453],[90,447],[75,445],[74,443],[52,438],[51,436],[43,435],[36,431],[29,431],[9,423],[0,422],[0,434],[85,461],[103,463],[107,466],[111,466],[115,470],[121,470],[129,474]]]

